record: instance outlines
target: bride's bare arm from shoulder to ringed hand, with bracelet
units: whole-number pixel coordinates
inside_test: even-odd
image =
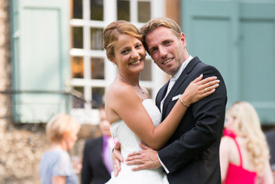
[[[173,110],[166,119],[157,127],[153,125],[150,116],[140,103],[139,97],[133,88],[120,86],[112,92],[107,92],[106,101],[109,107],[116,112],[126,125],[148,146],[154,150],[159,150],[173,135],[179,122],[184,116],[188,106],[192,103],[209,96],[217,88],[219,81],[216,77],[202,79],[199,76],[195,81],[188,85],[184,94],[181,95]],[[207,89],[207,92],[206,90]],[[184,105],[183,101],[186,105]]]

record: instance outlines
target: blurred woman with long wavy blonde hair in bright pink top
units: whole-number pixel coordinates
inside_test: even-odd
[[[265,134],[250,103],[237,102],[228,109],[220,153],[221,183],[274,183]]]

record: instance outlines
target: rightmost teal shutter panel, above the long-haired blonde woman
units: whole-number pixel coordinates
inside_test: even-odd
[[[275,3],[241,3],[240,12],[240,96],[275,124]]]

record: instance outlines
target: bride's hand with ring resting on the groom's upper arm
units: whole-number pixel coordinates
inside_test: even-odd
[[[184,94],[181,95],[181,100],[184,101],[186,105],[200,101],[218,88],[219,79],[217,79],[217,76],[210,76],[201,80],[202,77],[203,74],[192,81],[184,91]]]

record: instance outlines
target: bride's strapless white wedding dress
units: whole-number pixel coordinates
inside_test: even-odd
[[[151,119],[155,126],[159,125],[162,119],[159,109],[155,105],[152,99],[146,99],[142,101],[142,105],[151,116]],[[113,138],[117,137],[121,145],[121,153],[123,158],[137,150],[142,150],[140,147],[140,139],[127,127],[124,121],[116,121],[111,125],[111,134]],[[107,184],[168,184],[167,176],[164,174],[162,167],[155,170],[140,170],[131,171],[131,167],[135,165],[126,165],[125,162],[121,163],[121,171],[118,176],[115,177],[113,172],[111,179]]]

